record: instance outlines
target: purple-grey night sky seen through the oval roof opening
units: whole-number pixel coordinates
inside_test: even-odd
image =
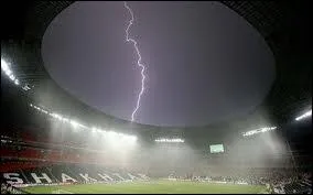
[[[129,2],[147,66],[136,122],[203,126],[247,115],[274,79],[261,35],[219,2]],[[47,28],[44,66],[69,94],[130,120],[141,86],[123,2],[75,2]]]

